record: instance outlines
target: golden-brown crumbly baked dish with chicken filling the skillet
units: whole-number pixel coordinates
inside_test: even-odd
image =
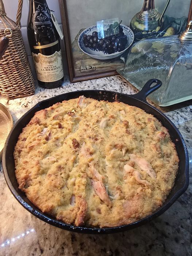
[[[84,96],[36,112],[14,157],[28,199],[77,226],[118,226],[149,215],[178,169],[175,145],[153,115]]]

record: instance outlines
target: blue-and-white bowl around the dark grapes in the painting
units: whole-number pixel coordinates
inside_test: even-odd
[[[107,30],[107,28],[109,28],[110,24],[104,24],[104,28]],[[91,26],[86,28],[84,31],[81,32],[81,34],[78,37],[78,46],[80,47],[81,51],[83,51],[84,53],[86,53],[87,55],[89,55],[92,58],[95,58],[97,60],[109,60],[109,59],[113,59],[116,57],[119,57],[120,55],[122,55],[127,49],[128,47],[130,47],[133,43],[134,40],[134,34],[133,31],[124,25],[120,25],[123,28],[123,32],[124,34],[127,36],[127,44],[126,47],[123,51],[117,51],[116,53],[111,53],[111,54],[107,54],[107,53],[103,53],[103,51],[99,51],[99,50],[92,50],[89,49],[89,47],[85,47],[84,43],[83,43],[83,35],[92,35],[93,31],[97,31],[97,26]]]

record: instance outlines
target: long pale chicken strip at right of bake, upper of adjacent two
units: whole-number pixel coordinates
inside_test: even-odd
[[[152,179],[157,177],[150,163],[148,163],[144,158],[141,158],[136,154],[129,154],[129,157],[131,161],[134,161],[142,169],[142,171],[146,171]]]

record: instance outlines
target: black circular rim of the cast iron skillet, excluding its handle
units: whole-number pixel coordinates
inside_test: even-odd
[[[3,165],[3,173],[4,173],[4,177],[5,177],[5,181],[9,187],[9,190],[11,191],[11,193],[14,195],[14,197],[16,198],[16,200],[18,200],[18,202],[26,209],[28,210],[31,214],[33,214],[35,217],[38,217],[39,219],[41,219],[42,221],[45,221],[53,226],[56,226],[58,228],[61,229],[65,229],[68,231],[72,231],[72,232],[78,232],[78,233],[86,233],[86,234],[110,234],[110,233],[116,233],[116,232],[123,232],[126,230],[130,230],[133,228],[136,228],[138,226],[141,226],[149,221],[151,221],[152,219],[160,216],[162,213],[164,213],[166,210],[169,209],[170,206],[173,205],[173,203],[187,190],[188,185],[189,185],[189,158],[188,158],[188,151],[187,151],[187,146],[185,144],[185,141],[180,133],[180,131],[177,129],[177,127],[174,125],[174,123],[172,121],[170,121],[170,119],[164,114],[162,113],[160,110],[158,110],[157,108],[151,106],[146,100],[142,100],[142,99],[136,99],[139,100],[142,103],[147,104],[149,107],[153,108],[153,110],[159,112],[162,116],[164,116],[164,118],[173,126],[173,128],[176,130],[178,136],[181,139],[181,142],[183,144],[184,147],[184,152],[185,152],[185,183],[183,185],[183,187],[178,190],[173,197],[166,203],[166,205],[159,207],[154,213],[147,215],[146,217],[135,221],[133,223],[127,224],[127,225],[121,225],[121,226],[116,226],[116,227],[111,227],[111,228],[95,228],[95,227],[78,227],[78,226],[74,226],[74,225],[70,225],[67,223],[64,223],[62,221],[57,221],[56,219],[50,217],[47,214],[43,214],[41,213],[39,210],[34,209],[34,207],[31,207],[30,205],[28,205],[28,203],[18,194],[18,192],[15,190],[14,186],[12,185],[11,181],[9,180],[9,175],[7,172],[7,168],[6,168],[6,162],[5,162],[5,156],[6,156],[6,152],[7,152],[7,144],[9,141],[9,138],[11,137],[12,131],[15,129],[15,127],[18,125],[18,123],[20,123],[22,121],[23,118],[25,118],[25,116],[31,112],[32,110],[34,110],[35,108],[37,108],[38,106],[41,105],[41,103],[43,102],[48,102],[50,99],[54,99],[57,97],[62,97],[63,95],[66,94],[74,94],[74,93],[82,93],[81,95],[83,95],[83,93],[85,92],[106,92],[106,93],[115,93],[117,95],[123,95],[123,96],[129,96],[133,99],[136,99],[134,97],[134,95],[127,95],[125,93],[119,93],[119,92],[114,92],[114,91],[105,91],[105,90],[82,90],[82,91],[73,91],[73,92],[67,92],[67,93],[63,93],[61,95],[57,95],[54,97],[51,97],[49,99],[45,99],[42,100],[41,102],[35,104],[35,106],[33,106],[30,110],[28,110],[21,118],[19,118],[19,120],[15,123],[14,127],[12,127],[11,132],[9,133],[7,140],[5,142],[5,146],[4,146],[4,151],[3,151],[3,161],[2,161],[2,165]],[[36,208],[36,207],[35,207]]]

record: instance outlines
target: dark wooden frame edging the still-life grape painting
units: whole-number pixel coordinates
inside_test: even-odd
[[[65,42],[65,50],[66,50],[66,60],[68,64],[68,72],[69,79],[71,83],[76,83],[80,81],[98,79],[101,77],[114,76],[117,75],[116,69],[114,70],[106,70],[105,72],[92,73],[92,74],[84,74],[83,76],[76,76],[74,69],[74,61],[73,61],[73,52],[72,52],[72,42],[70,37],[70,27],[69,27],[69,18],[68,18],[68,10],[67,10],[67,0],[58,0],[59,1],[59,9],[61,14],[61,23],[62,30],[64,33],[64,42]],[[188,22],[192,20],[192,0],[189,8],[188,14]]]

